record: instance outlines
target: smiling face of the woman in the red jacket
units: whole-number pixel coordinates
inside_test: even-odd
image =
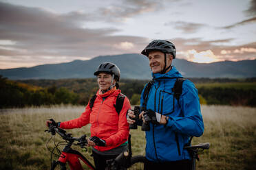
[[[107,90],[111,86],[112,76],[108,73],[99,73],[97,76],[98,87],[100,90]],[[113,81],[116,84],[116,80]]]

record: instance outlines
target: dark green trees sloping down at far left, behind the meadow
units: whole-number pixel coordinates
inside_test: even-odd
[[[79,95],[67,88],[40,88],[7,80],[0,75],[0,108],[78,104]]]

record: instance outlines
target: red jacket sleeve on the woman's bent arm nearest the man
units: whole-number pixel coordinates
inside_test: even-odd
[[[109,138],[106,138],[105,141],[108,146],[122,144],[128,140],[129,123],[127,123],[126,114],[127,114],[127,110],[129,109],[131,109],[131,105],[130,105],[129,99],[125,97],[122,110],[119,113],[118,132],[114,135],[109,136]]]

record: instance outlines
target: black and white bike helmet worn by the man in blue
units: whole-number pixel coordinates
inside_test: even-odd
[[[168,40],[153,40],[152,42],[141,51],[141,53],[145,56],[149,56],[150,51],[161,51],[162,53],[171,53],[173,59],[176,56],[176,48],[172,42]]]

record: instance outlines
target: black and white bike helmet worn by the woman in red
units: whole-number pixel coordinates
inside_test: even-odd
[[[103,62],[98,66],[98,69],[94,72],[94,75],[98,75],[101,72],[110,73],[112,76],[114,75],[117,82],[120,80],[120,69],[114,63]]]

